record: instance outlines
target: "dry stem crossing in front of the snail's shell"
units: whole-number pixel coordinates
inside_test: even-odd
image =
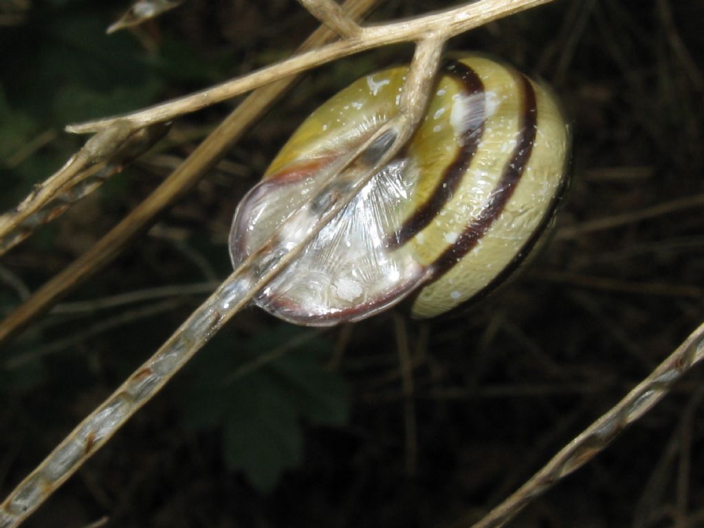
[[[180,368],[218,332],[243,306],[256,296],[271,279],[284,270],[296,255],[315,237],[320,229],[334,218],[365,184],[388,163],[415,131],[422,120],[429,99],[429,87],[439,67],[443,42],[428,39],[419,42],[413,62],[408,70],[406,86],[398,115],[372,135],[360,148],[346,156],[341,175],[352,168],[353,174],[362,168],[357,180],[349,182],[339,199],[322,213],[313,213],[317,191],[312,191],[310,200],[301,211],[308,222],[306,236],[297,242],[293,249],[287,249],[287,241],[278,232],[285,228],[286,220],[279,225],[277,232],[263,246],[246,258],[237,270],[211,295],[193,314],[172,334],[159,350],[139,367],[120,388],[118,388],[99,408],[85,418],[67,438],[15,488],[0,508],[0,528],[18,526],[36,510],[53,491],[58,489],[68,477],[76,472],[115,432],[142,408],[173,377]],[[373,165],[360,167],[367,149],[375,149],[382,139],[394,132],[395,140]],[[368,157],[368,156],[367,156]],[[329,181],[337,178],[329,174],[320,182],[320,191]],[[298,215],[298,211],[291,213]],[[288,220],[288,219],[287,219]]]

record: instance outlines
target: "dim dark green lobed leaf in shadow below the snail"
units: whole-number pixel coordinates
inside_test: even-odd
[[[266,493],[301,464],[302,420],[346,423],[346,385],[323,367],[331,346],[310,329],[280,324],[244,343],[211,345],[195,365],[185,422],[196,430],[222,427],[227,467]]]

